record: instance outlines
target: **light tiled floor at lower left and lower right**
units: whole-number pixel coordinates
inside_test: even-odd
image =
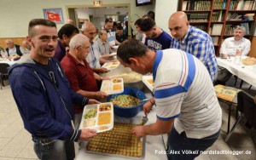
[[[234,84],[231,79],[229,84]],[[238,84],[237,84],[238,85]],[[243,84],[243,89],[248,89],[248,84]],[[250,94],[256,95],[256,89],[252,88]],[[227,106],[221,104],[223,109],[223,125],[221,136],[214,145],[207,151],[236,151],[232,154],[209,154],[201,155],[196,160],[235,160],[235,159],[256,159],[256,132],[255,130],[244,127],[245,121],[242,120],[237,126],[234,134],[228,143],[224,142],[227,129]],[[232,111],[231,125],[235,122],[235,110]],[[254,137],[254,140],[252,139]],[[254,142],[253,142],[254,141]],[[251,154],[239,154],[237,151],[251,151]],[[15,106],[15,101],[9,86],[0,90],[0,160],[32,160],[37,159],[33,148],[31,135],[23,128],[20,114]]]

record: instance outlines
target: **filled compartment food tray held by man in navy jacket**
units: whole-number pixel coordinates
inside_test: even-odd
[[[84,106],[79,129],[96,129],[97,133],[113,129],[113,104],[108,102]]]

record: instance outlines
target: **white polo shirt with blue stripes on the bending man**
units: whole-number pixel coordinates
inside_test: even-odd
[[[222,111],[207,68],[179,49],[156,52],[154,98],[160,120],[174,120],[178,133],[201,139],[218,132]]]

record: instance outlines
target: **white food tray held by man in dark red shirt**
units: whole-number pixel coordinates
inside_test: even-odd
[[[119,94],[124,92],[123,78],[114,78],[111,80],[102,81],[101,91],[105,92],[106,94]]]

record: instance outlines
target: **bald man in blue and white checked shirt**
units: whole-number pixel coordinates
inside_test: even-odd
[[[171,31],[171,49],[181,49],[189,54],[195,55],[207,67],[212,81],[217,77],[218,64],[212,38],[201,29],[189,26],[187,15],[178,11],[169,19]]]

